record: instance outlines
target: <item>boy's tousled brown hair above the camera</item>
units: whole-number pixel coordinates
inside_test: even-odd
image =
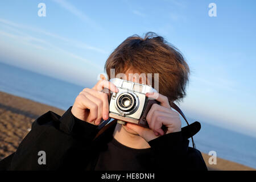
[[[169,101],[181,101],[186,95],[188,64],[177,48],[154,32],[147,32],[144,38],[130,36],[114,49],[105,63],[109,78],[110,69],[115,69],[117,75],[129,68],[140,73],[159,73],[159,93]]]

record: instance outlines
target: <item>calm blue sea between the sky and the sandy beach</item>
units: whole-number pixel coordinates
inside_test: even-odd
[[[0,91],[67,110],[86,87],[0,63]],[[189,118],[189,115],[187,115]],[[189,122],[195,119],[189,118]],[[256,138],[200,121],[196,148],[256,169]],[[191,146],[191,142],[189,142]],[[206,163],[208,163],[206,161]],[[213,164],[214,165],[214,164]]]

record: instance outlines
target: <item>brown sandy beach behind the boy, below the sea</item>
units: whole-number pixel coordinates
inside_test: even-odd
[[[32,122],[49,110],[59,115],[65,112],[56,107],[0,92],[0,160],[16,151],[29,132]],[[203,154],[209,170],[256,170],[221,158],[217,158],[216,165],[209,165],[209,157],[208,154]]]

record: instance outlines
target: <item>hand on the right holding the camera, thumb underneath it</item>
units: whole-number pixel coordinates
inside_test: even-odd
[[[146,93],[146,96],[151,98],[154,98],[155,95],[154,93]],[[150,129],[131,123],[126,124],[127,128],[138,133],[147,142],[164,134],[161,129],[162,125],[167,127],[166,134],[181,131],[179,113],[171,109],[168,98],[158,93],[158,98],[155,99],[160,102],[160,105],[153,104],[148,111],[146,119]]]

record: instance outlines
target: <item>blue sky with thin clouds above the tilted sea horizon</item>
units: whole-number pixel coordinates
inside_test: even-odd
[[[46,17],[38,4],[46,4]],[[209,17],[209,3],[217,17]],[[256,136],[255,1],[1,1],[0,61],[92,86],[123,40],[154,31],[191,68],[181,108]]]

